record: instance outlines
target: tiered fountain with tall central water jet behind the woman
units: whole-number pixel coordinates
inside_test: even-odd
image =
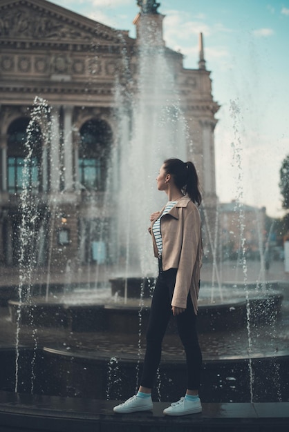
[[[151,3],[156,12],[158,6]],[[145,7],[149,8],[149,2]],[[147,26],[146,19],[149,16],[145,14],[139,27],[141,79],[131,112],[122,84],[115,91],[118,107],[115,115],[122,131],[120,149],[115,151],[121,150],[122,163],[119,168],[118,164],[114,166],[118,158],[112,155],[106,191],[108,196],[112,193],[111,199],[120,215],[118,238],[113,246],[117,264],[114,274],[109,276],[112,286],[109,279],[104,288],[82,286],[69,280],[69,292],[64,295],[68,291],[65,284],[49,284],[47,291],[47,284],[31,286],[26,279],[21,282],[21,301],[10,300],[10,314],[17,323],[21,344],[17,346],[16,375],[14,353],[5,352],[9,379],[2,388],[8,391],[120,400],[134,393],[138,385],[156,275],[147,233],[149,214],[161,206],[154,179],[166,157],[186,159],[187,154],[194,155],[193,144],[187,146],[186,124],[160,35],[156,36],[155,28]],[[122,187],[119,201],[115,202],[118,182]],[[207,231],[211,233],[212,229],[207,226]],[[25,224],[23,233],[28,235]],[[214,253],[212,256],[214,262],[209,265],[216,269]],[[243,262],[244,271],[246,266],[248,263]],[[27,275],[26,266],[22,268]],[[28,295],[31,288],[33,296]],[[274,281],[250,283],[245,277],[241,284],[223,284],[218,297],[212,295],[214,286],[202,284],[198,328],[205,359],[203,402],[288,399],[288,389],[283,383],[288,382],[289,357],[279,320],[280,288]],[[27,295],[23,296],[24,292]],[[153,397],[172,400],[183,393],[185,368],[173,322],[163,351],[164,360]]]

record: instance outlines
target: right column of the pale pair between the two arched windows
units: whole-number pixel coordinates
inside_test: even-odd
[[[73,189],[73,107],[64,106],[64,188]]]

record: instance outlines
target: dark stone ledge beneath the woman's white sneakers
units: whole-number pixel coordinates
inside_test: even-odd
[[[184,417],[153,412],[114,414],[115,401],[0,392],[1,432],[276,432],[289,430],[289,402],[203,404],[203,413]]]

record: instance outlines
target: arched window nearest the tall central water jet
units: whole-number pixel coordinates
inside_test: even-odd
[[[103,120],[86,121],[80,129],[80,183],[88,190],[105,188],[112,132]]]

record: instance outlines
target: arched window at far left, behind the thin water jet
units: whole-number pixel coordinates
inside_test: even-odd
[[[8,128],[8,192],[39,192],[41,130],[29,119],[17,119]]]

